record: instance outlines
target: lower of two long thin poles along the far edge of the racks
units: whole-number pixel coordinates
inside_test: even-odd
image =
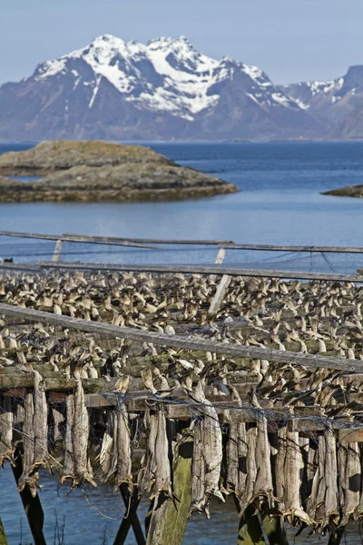
[[[329,272],[264,271],[260,269],[236,269],[216,265],[137,265],[125,263],[53,263],[38,261],[44,268],[76,269],[82,271],[133,271],[133,272],[182,272],[185,274],[229,274],[230,276],[249,276],[258,278],[283,278],[295,280],[326,280],[331,282],[363,282],[363,276],[356,274],[336,274]]]

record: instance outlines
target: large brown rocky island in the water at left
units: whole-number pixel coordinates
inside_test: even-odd
[[[0,203],[167,201],[238,191],[139,145],[51,140],[0,156]]]

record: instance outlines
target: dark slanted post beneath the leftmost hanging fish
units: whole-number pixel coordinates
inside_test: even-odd
[[[12,470],[15,476],[16,484],[18,484],[23,473],[22,456],[18,449],[15,451]],[[25,486],[25,489],[20,492],[20,497],[23,501],[26,518],[33,534],[34,545],[46,545],[43,534],[44,512],[38,494],[36,494],[34,498],[29,488]]]

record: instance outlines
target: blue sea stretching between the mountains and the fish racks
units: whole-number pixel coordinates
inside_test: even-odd
[[[363,245],[363,200],[320,194],[363,183],[363,143],[145,144],[235,183],[240,193],[173,203],[0,204],[0,229],[236,243]],[[0,153],[30,144],[0,144]],[[5,243],[9,247],[5,248]],[[3,246],[1,245],[3,244]],[[20,244],[17,246],[17,244]],[[2,247],[4,248],[2,251]],[[0,255],[49,258],[53,243],[0,240]],[[357,259],[309,254],[228,253],[226,263],[350,272]],[[172,252],[64,245],[63,259],[103,263],[213,263],[215,250]],[[317,259],[319,263],[317,262]]]

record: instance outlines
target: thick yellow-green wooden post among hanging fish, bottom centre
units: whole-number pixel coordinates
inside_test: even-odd
[[[191,456],[193,439],[190,430],[182,431],[175,447],[173,500],[163,493],[154,500],[147,545],[182,545],[191,506]]]

